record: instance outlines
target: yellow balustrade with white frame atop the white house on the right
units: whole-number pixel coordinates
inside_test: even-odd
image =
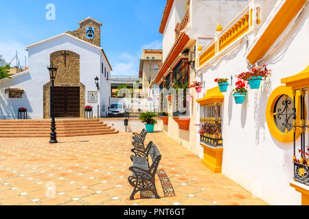
[[[249,16],[249,6],[247,6],[198,54],[198,67],[203,66],[218,53],[227,49],[233,42],[245,36],[250,29]]]

